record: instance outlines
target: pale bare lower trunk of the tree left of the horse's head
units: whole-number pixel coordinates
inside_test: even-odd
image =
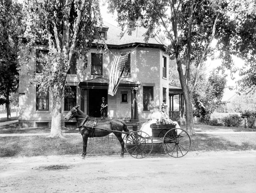
[[[54,86],[52,91],[52,125],[49,137],[61,137],[61,99],[62,88]]]

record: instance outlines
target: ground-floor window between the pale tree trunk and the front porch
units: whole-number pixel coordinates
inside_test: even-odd
[[[64,111],[69,111],[76,106],[76,86],[65,87],[64,91]]]

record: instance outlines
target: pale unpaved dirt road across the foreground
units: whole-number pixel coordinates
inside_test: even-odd
[[[256,151],[0,158],[0,192],[255,193]]]

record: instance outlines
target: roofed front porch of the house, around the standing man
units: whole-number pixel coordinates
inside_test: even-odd
[[[108,95],[108,78],[99,77],[80,82],[81,110],[87,115],[99,117],[99,102],[106,98],[108,118],[138,120],[137,92],[140,84],[121,80],[116,95]]]

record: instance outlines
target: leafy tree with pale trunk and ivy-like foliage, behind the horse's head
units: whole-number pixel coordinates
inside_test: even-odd
[[[43,65],[40,89],[50,89],[52,124],[50,136],[61,136],[61,100],[73,55],[87,63],[93,40],[101,39],[98,31],[102,18],[98,0],[26,0],[26,31],[23,57],[35,56],[35,47],[49,50]],[[98,47],[102,44],[98,41]],[[26,65],[27,60],[23,60]]]

